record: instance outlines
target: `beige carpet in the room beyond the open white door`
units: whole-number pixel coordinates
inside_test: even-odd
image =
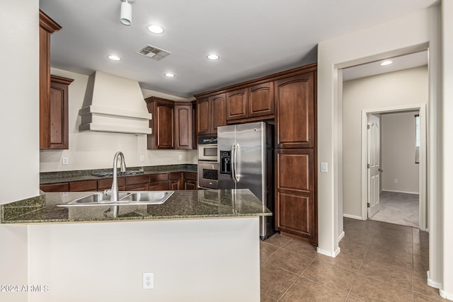
[[[418,194],[382,191],[379,203],[379,211],[371,220],[418,228]]]

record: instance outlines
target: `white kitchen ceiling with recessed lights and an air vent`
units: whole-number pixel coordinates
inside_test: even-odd
[[[316,62],[316,45],[390,21],[437,0],[134,0],[132,24],[120,23],[120,0],[40,0],[62,30],[51,37],[51,66],[79,74],[103,71],[142,88],[190,98],[195,93]],[[156,23],[164,33],[147,26]],[[161,61],[144,45],[171,52]],[[209,61],[210,52],[220,59]],[[117,62],[107,59],[116,54]],[[165,73],[176,74],[167,78]]]

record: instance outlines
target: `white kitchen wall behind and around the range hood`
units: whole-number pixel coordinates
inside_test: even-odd
[[[146,135],[79,132],[81,122],[79,110],[83,107],[88,76],[55,68],[51,69],[51,74],[74,79],[69,85],[69,149],[41,150],[40,172],[111,168],[116,151],[125,154],[129,167],[197,163],[196,151],[147,150]],[[171,100],[183,100],[144,89],[142,92],[144,98],[154,95]],[[144,156],[144,161],[139,161],[140,156]],[[62,165],[62,157],[69,159],[68,165]]]

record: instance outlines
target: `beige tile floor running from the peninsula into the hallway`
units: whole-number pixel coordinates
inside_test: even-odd
[[[344,220],[336,258],[275,234],[261,241],[261,301],[446,301],[426,284],[428,233]]]

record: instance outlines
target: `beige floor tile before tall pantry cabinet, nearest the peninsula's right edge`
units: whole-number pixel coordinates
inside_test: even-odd
[[[290,250],[285,250],[280,248],[277,252],[274,252],[273,255],[268,257],[266,262],[272,263],[273,265],[286,269],[293,274],[298,276],[304,272],[306,267],[313,262],[314,258],[300,255],[297,252],[292,252]]]

